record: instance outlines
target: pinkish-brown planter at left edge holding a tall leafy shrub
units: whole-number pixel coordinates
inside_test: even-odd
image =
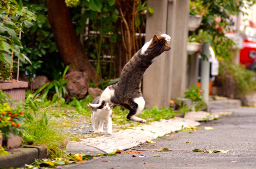
[[[1,82],[0,83],[0,90],[8,94],[13,101],[22,100],[23,103],[25,102],[25,93],[26,93],[27,87],[28,87],[28,82]]]

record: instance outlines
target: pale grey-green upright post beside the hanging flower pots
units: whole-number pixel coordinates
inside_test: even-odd
[[[206,58],[202,59],[202,69],[201,69],[201,89],[203,92],[202,101],[208,106],[209,104],[209,82],[210,82],[210,42],[203,44],[202,54]]]

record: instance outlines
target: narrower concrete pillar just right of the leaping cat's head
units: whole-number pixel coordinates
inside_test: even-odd
[[[172,62],[171,99],[183,97],[187,88],[187,40],[189,0],[176,1],[175,33],[172,35],[174,43]]]

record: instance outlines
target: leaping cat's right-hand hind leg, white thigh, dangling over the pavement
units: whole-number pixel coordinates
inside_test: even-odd
[[[140,123],[145,123],[146,120],[141,119],[139,117],[137,117],[137,115],[144,109],[145,107],[145,100],[143,99],[143,97],[137,97],[135,99],[133,99],[133,101],[138,104],[137,109],[131,109],[128,116],[126,117],[129,120],[132,121],[136,121],[136,122],[140,122]]]

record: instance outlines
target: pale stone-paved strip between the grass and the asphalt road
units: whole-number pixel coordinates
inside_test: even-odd
[[[104,154],[112,153],[115,149],[121,151],[133,148],[171,132],[182,130],[184,127],[198,126],[199,122],[191,119],[175,117],[169,120],[154,121],[150,125],[140,125],[126,129],[113,135],[81,139],[80,142],[68,142],[67,153]]]

